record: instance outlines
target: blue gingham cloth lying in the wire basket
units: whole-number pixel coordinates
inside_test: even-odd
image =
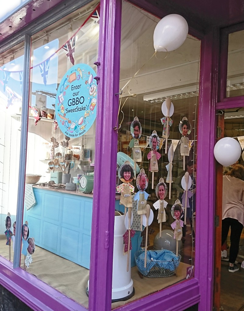
[[[179,258],[175,253],[167,250],[149,250],[146,252],[146,268],[144,267],[145,252],[141,253],[136,259],[136,265],[141,272],[146,275],[155,265],[174,271],[179,266]],[[174,261],[173,261],[173,260]]]

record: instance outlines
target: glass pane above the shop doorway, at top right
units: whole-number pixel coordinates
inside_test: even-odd
[[[244,30],[229,34],[226,97],[244,95]]]

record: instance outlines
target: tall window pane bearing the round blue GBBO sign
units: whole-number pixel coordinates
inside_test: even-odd
[[[85,307],[99,12],[91,2],[32,37],[22,230],[21,267]]]

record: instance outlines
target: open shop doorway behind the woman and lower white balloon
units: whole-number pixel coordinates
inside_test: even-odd
[[[242,114],[243,112],[243,114]],[[244,138],[244,109],[225,109],[218,114],[218,140],[223,137],[232,137],[240,141]],[[244,146],[242,146],[243,150]],[[237,161],[244,165],[242,155]],[[235,164],[234,164],[235,165]],[[234,165],[223,167],[216,166],[216,216],[215,216],[215,280],[214,280],[214,310],[243,311],[244,310],[244,269],[241,264],[244,260],[244,230],[242,230],[236,266],[239,268],[234,273],[229,272],[230,230],[226,242],[221,245],[222,233],[222,194],[223,175],[228,174]]]

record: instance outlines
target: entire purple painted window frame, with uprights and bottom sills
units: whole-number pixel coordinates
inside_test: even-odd
[[[61,2],[57,1],[56,2]],[[134,1],[135,2],[135,1]],[[139,3],[138,3],[139,4]],[[142,3],[141,3],[142,5]],[[143,6],[152,13],[160,14],[149,2]],[[119,90],[119,54],[121,1],[101,0],[99,33],[98,109],[95,161],[95,184],[92,220],[92,245],[89,286],[89,310],[107,311],[111,308],[112,248],[114,226],[114,186],[117,153],[116,126]],[[165,14],[166,15],[166,14]],[[190,25],[189,25],[190,26]],[[190,33],[194,30],[189,27]],[[172,285],[160,292],[127,304],[117,310],[155,310],[164,306],[165,311],[182,310],[199,303],[199,311],[213,307],[214,269],[214,206],[215,206],[215,160],[213,146],[216,138],[216,109],[237,105],[239,99],[217,103],[219,68],[219,33],[211,29],[206,34],[196,34],[202,40],[199,89],[198,159],[196,197],[195,277]],[[221,60],[221,63],[227,60]],[[112,81],[112,82],[111,82]],[[243,106],[243,104],[242,104]],[[202,146],[202,148],[200,148]],[[110,160],[108,160],[110,159]],[[101,180],[103,187],[101,187]],[[104,192],[103,189],[111,189]],[[201,221],[200,221],[201,220]],[[49,285],[34,278],[21,268],[12,268],[12,263],[0,258],[0,284],[34,310],[86,310],[83,306],[60,294]],[[28,292],[25,290],[28,288]],[[177,295],[177,302],[175,299]]]

